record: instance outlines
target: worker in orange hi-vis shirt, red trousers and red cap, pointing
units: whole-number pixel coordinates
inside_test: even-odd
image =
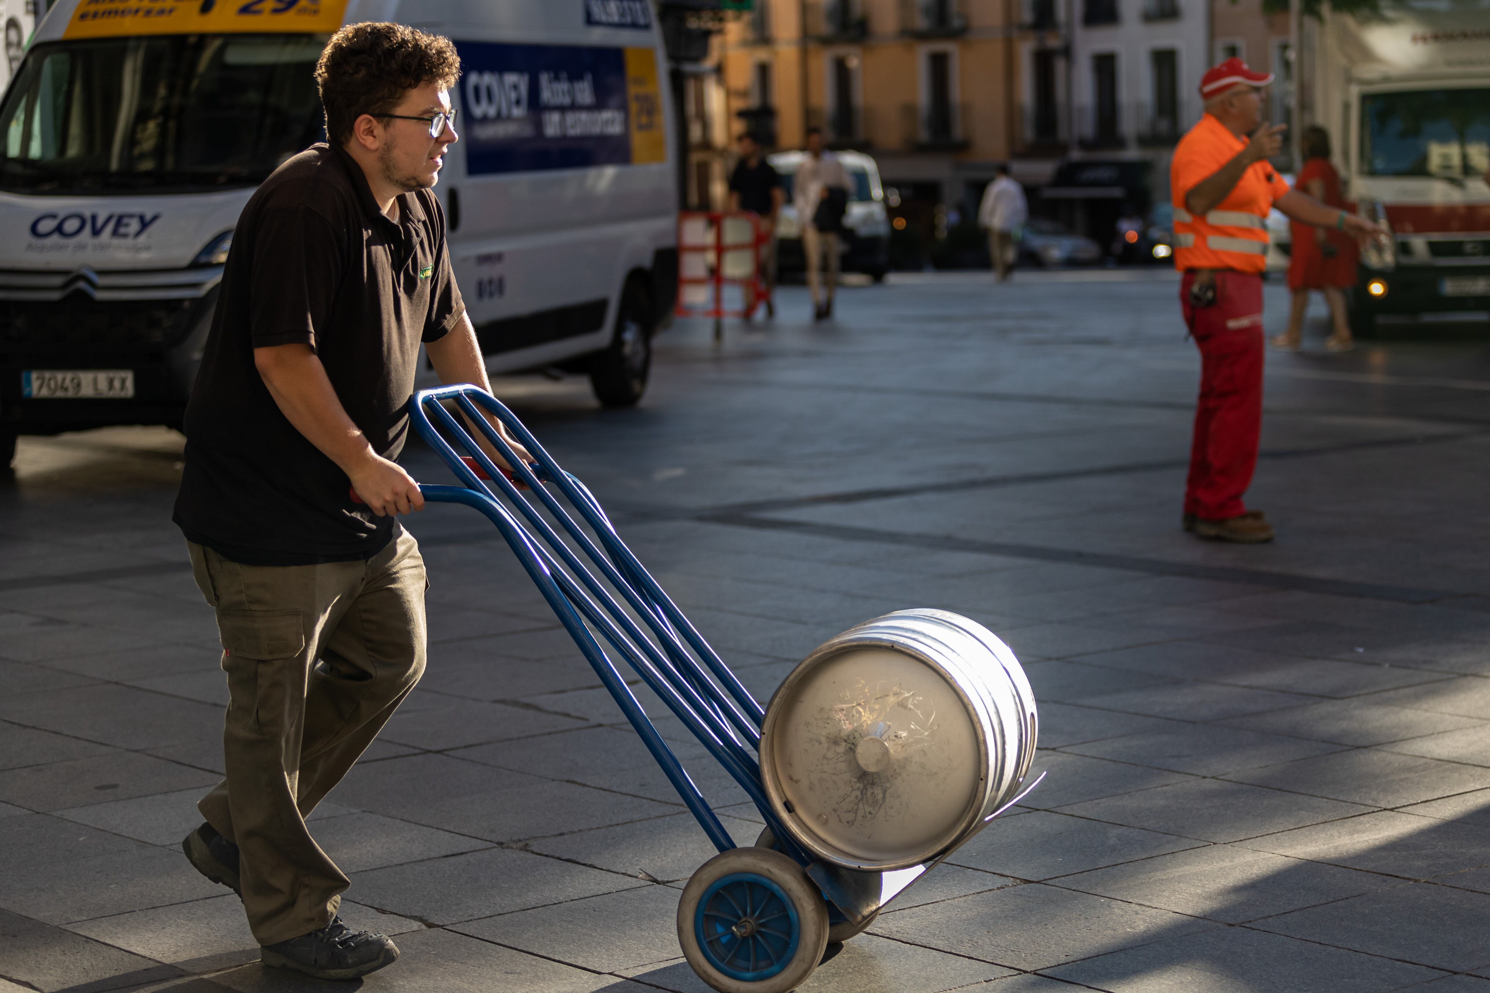
[[[1180,139],[1170,166],[1174,195],[1174,267],[1185,273],[1180,306],[1201,350],[1185,529],[1217,541],[1272,540],[1261,510],[1241,495],[1258,465],[1262,429],[1262,270],[1268,210],[1357,239],[1386,231],[1326,207],[1278,176],[1268,160],[1286,125],[1262,116],[1268,73],[1228,58],[1201,79],[1205,115]]]

